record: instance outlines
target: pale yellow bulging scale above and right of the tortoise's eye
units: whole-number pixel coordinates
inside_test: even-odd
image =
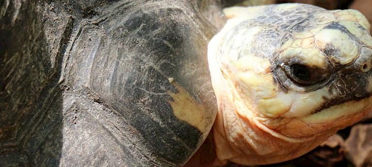
[[[336,55],[330,55],[330,57],[341,65],[353,62],[359,54],[356,42],[339,29],[321,30],[315,35],[315,43],[322,49],[337,48],[337,52],[330,53]]]

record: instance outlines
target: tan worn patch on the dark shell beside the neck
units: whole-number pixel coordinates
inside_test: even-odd
[[[178,90],[178,93],[168,91],[168,94],[174,101],[168,101],[172,107],[173,114],[182,121],[198,128],[207,137],[213,118],[206,114],[206,108],[202,103],[197,102],[184,88],[179,86],[176,82],[172,84]]]

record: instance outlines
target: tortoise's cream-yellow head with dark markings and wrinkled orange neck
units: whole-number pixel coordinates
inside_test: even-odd
[[[244,165],[307,153],[372,107],[372,38],[355,10],[225,9],[208,46],[217,158]]]

